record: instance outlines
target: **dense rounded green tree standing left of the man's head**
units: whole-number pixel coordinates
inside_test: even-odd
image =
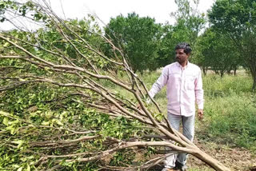
[[[111,18],[106,26],[106,37],[115,46],[121,47],[123,54],[134,72],[156,70],[158,64],[159,40],[161,25],[155,23],[154,18],[140,18],[138,14],[119,15]]]

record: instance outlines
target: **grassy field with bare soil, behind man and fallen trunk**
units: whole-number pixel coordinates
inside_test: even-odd
[[[148,88],[160,73],[144,74]],[[249,170],[256,164],[256,102],[252,80],[245,71],[236,76],[203,76],[205,117],[196,121],[195,144],[234,170]],[[166,113],[166,89],[155,99]],[[195,157],[189,170],[213,170]]]

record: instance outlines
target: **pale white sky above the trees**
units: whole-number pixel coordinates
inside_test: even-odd
[[[23,0],[24,2],[25,0]],[[171,12],[177,10],[174,0],[46,0],[54,12],[62,18],[83,18],[87,14],[96,14],[102,20],[104,26],[110,22],[110,18],[135,12],[140,17],[149,16],[158,23],[174,22],[170,17]],[[21,0],[22,2],[22,0]],[[201,0],[198,10],[206,13],[213,5],[214,0]],[[64,11],[64,12],[63,12]],[[26,24],[27,26],[27,24]],[[0,23],[0,30],[12,28],[6,22]]]

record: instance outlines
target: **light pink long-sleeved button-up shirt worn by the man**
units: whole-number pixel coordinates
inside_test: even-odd
[[[150,89],[154,97],[166,85],[167,111],[175,115],[189,117],[195,113],[195,102],[198,109],[203,109],[202,75],[198,66],[188,62],[182,68],[174,62],[163,68],[161,76]]]

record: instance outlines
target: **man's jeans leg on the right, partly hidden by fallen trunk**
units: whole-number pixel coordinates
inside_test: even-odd
[[[190,117],[182,117],[182,128],[183,128],[183,135],[193,141],[194,139],[194,115]],[[177,161],[181,165],[186,164],[187,153],[178,153]]]

